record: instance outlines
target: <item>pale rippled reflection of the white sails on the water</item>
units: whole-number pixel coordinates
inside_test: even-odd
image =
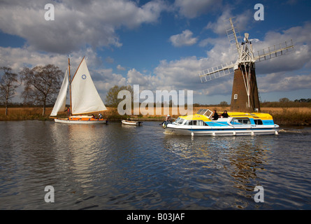
[[[62,176],[62,181],[55,183],[60,185],[63,203],[75,202],[73,208],[79,208],[82,204],[97,207],[87,202],[92,201],[92,192],[99,187],[94,183],[100,182],[101,174],[107,172],[105,167],[108,161],[104,150],[108,136],[106,125],[54,124],[50,126],[50,131],[57,152],[57,170]],[[86,205],[81,202],[86,202]]]

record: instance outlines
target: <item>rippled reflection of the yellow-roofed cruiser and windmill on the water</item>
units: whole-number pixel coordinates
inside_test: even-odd
[[[237,208],[245,208],[245,197],[252,197],[254,187],[261,185],[265,167],[269,165],[271,148],[275,146],[275,137],[171,137],[164,138],[164,147],[174,156],[182,158],[182,169],[193,170],[198,184],[196,193],[204,192],[210,183],[222,189],[231,188],[232,192],[224,190],[226,203],[232,198],[232,204]],[[173,157],[172,155],[172,157]],[[204,172],[202,172],[204,171]],[[212,176],[212,178],[211,178]],[[219,190],[218,189],[218,190]],[[236,189],[236,190],[233,190]],[[211,191],[207,194],[215,195]],[[233,195],[232,195],[233,194]],[[216,194],[217,195],[217,194]],[[239,200],[238,196],[243,197]],[[212,196],[215,204],[222,199]],[[204,198],[204,197],[203,197]],[[210,200],[210,197],[208,197]],[[224,202],[222,202],[222,207]]]

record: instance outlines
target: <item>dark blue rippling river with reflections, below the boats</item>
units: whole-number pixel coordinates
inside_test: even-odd
[[[311,127],[182,137],[159,123],[0,122],[0,209],[311,209]]]

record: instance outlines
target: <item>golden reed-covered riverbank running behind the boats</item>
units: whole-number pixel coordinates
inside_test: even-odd
[[[220,107],[220,106],[212,106],[208,107],[194,107],[194,113],[198,111],[198,109],[210,109],[217,110],[219,113],[227,110],[230,111],[229,107]],[[174,109],[173,109],[174,110]],[[0,108],[0,120],[50,120],[50,113],[52,108],[47,108],[45,116],[42,116],[42,109],[39,107],[15,107],[8,109],[8,116],[5,115],[5,109]],[[311,125],[311,108],[310,107],[292,107],[292,108],[279,108],[279,107],[263,107],[261,108],[261,112],[270,113],[273,116],[273,120],[277,125]],[[132,113],[133,114],[133,113]],[[154,109],[154,114],[156,111]],[[182,114],[178,113],[177,115],[175,111],[170,109],[162,109],[161,115],[131,115],[131,116],[121,116],[117,113],[117,109],[108,108],[108,111],[103,112],[104,118],[108,118],[108,120],[122,120],[126,118],[131,118],[133,120],[142,120],[142,121],[154,121],[154,120],[164,120],[166,115],[170,114],[173,118],[178,118],[178,116],[182,116]],[[66,117],[66,112],[62,112],[59,114],[61,117]],[[97,116],[97,115],[96,115]]]

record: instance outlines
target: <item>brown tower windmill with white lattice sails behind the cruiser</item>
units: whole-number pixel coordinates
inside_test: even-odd
[[[229,62],[205,69],[199,73],[199,77],[203,83],[234,73],[231,111],[260,111],[255,62],[262,62],[293,51],[293,41],[285,41],[254,53],[249,34],[245,33],[244,40],[240,41],[241,37],[233,25],[233,19],[229,19],[230,27],[226,29],[226,33],[231,47],[236,48],[238,52],[236,63]]]

